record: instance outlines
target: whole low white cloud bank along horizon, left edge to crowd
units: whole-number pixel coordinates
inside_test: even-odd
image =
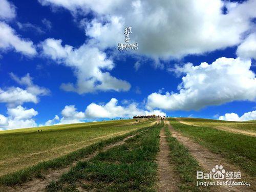
[[[24,80],[23,82],[26,81]],[[9,116],[0,114],[0,130],[38,126],[33,119],[33,117],[38,114],[34,109],[26,109],[23,106],[18,105],[16,107],[8,107],[7,114]],[[61,111],[61,118],[58,115],[55,115],[53,119],[49,119],[45,124],[39,124],[39,126],[80,123],[100,118],[127,118],[134,115],[153,114],[166,116],[161,110],[143,110],[139,108],[138,103],[135,102],[118,105],[118,100],[112,98],[105,104],[91,103],[83,112],[79,112],[75,108],[75,105],[66,105]]]

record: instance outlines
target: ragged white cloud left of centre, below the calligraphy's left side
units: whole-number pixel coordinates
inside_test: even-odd
[[[78,49],[61,45],[61,40],[46,39],[41,43],[43,54],[74,70],[76,84],[63,83],[61,88],[79,94],[95,91],[128,91],[130,83],[111,76],[109,72],[114,63],[106,54],[90,44],[83,44]],[[104,70],[104,72],[103,72]]]

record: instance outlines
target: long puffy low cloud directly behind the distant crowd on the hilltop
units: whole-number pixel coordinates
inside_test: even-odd
[[[96,104],[91,103],[87,106],[84,112],[78,112],[75,105],[67,105],[61,111],[62,118],[59,121],[53,122],[52,120],[47,121],[47,125],[52,124],[68,124],[68,123],[79,123],[84,120],[93,120],[99,118],[125,118],[132,117],[134,115],[160,115],[165,116],[166,114],[160,110],[147,111],[138,108],[138,103],[132,102],[125,106],[118,105],[118,100],[112,98],[108,103]],[[55,119],[56,120],[56,119]]]

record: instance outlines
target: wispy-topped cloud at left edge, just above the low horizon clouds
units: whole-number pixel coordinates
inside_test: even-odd
[[[24,86],[25,89],[19,87],[0,88],[0,102],[7,103],[9,106],[23,104],[25,102],[37,103],[39,96],[50,93],[48,89],[34,84],[29,73],[22,78],[17,77],[13,73],[10,73],[10,76],[20,86]]]

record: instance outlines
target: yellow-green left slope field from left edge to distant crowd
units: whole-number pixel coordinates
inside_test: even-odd
[[[0,173],[4,175],[84,146],[150,125],[154,119],[116,120],[0,132]],[[37,132],[42,130],[42,132]]]

